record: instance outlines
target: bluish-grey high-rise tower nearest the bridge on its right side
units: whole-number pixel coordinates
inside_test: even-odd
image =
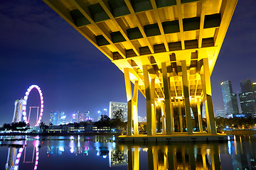
[[[223,93],[226,117],[228,118],[233,114],[238,114],[238,99],[237,95],[233,94],[231,81],[223,81],[220,85]]]

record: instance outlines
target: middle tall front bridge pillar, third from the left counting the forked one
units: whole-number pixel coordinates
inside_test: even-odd
[[[169,96],[169,82],[167,77],[166,63],[161,63],[163,81],[164,81],[164,100],[165,100],[165,113],[166,113],[166,135],[172,135],[171,131],[171,104]]]

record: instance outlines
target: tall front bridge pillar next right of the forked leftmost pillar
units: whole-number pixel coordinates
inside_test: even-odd
[[[146,92],[146,134],[152,135],[152,107],[151,107],[151,91],[149,86],[149,74],[147,65],[142,66],[144,76],[144,86]]]

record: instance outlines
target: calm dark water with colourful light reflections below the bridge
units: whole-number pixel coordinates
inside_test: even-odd
[[[256,135],[228,142],[132,145],[114,136],[1,136],[0,169],[256,169]],[[19,138],[26,140],[9,141]]]

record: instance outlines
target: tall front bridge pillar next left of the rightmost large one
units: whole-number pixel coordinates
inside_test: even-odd
[[[187,74],[187,68],[186,68],[186,60],[181,61],[181,69],[182,69],[183,96],[184,96],[185,113],[186,113],[186,128],[187,128],[188,135],[192,135],[193,127],[192,127],[190,102],[189,102],[188,74]]]

